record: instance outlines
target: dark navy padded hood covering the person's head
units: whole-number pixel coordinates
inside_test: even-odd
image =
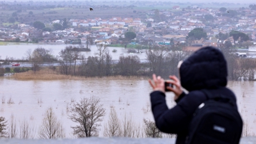
[[[227,61],[215,47],[203,47],[180,65],[180,83],[188,91],[227,85]]]

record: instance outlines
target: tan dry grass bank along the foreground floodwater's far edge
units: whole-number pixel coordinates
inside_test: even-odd
[[[16,73],[13,76],[8,78],[16,79],[16,80],[61,80],[61,79],[69,79],[69,80],[90,80],[90,79],[99,79],[99,80],[146,80],[148,77],[124,77],[124,76],[108,76],[108,77],[81,77],[81,76],[70,76],[63,75],[58,73],[57,71],[51,70],[49,68],[44,68],[38,72],[33,72],[33,70],[29,70],[28,72]]]

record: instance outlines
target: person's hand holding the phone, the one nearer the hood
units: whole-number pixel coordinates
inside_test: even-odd
[[[174,86],[173,88],[170,86],[167,86],[166,88],[175,94],[174,100],[177,100],[181,95],[181,93],[183,92],[180,86],[180,80],[176,76],[169,76],[169,77],[173,81],[168,81],[168,83],[172,83]]]

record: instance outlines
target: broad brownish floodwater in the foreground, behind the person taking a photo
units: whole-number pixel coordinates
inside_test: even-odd
[[[67,137],[72,137],[71,126],[76,125],[68,119],[67,108],[82,97],[99,97],[106,115],[101,122],[108,122],[110,108],[113,107],[118,118],[132,115],[134,122],[143,124],[143,118],[153,120],[150,111],[149,93],[152,91],[146,80],[99,80],[86,81],[56,80],[56,81],[17,81],[0,77],[0,102],[5,97],[5,103],[0,104],[0,116],[10,120],[11,115],[17,120],[27,118],[37,129],[42,123],[45,110],[52,107],[58,119],[65,127]],[[228,82],[228,88],[237,96],[239,112],[247,125],[248,135],[256,134],[256,81]],[[13,104],[7,104],[12,99]],[[171,108],[175,105],[173,94],[167,93],[167,104]],[[18,123],[19,125],[19,123]],[[19,127],[19,126],[18,126]],[[99,136],[103,136],[100,127]]]

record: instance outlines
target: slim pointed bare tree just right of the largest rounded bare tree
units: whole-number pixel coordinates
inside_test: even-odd
[[[104,125],[104,136],[113,137],[120,136],[121,124],[118,116],[116,115],[115,108],[110,109],[108,124]]]

